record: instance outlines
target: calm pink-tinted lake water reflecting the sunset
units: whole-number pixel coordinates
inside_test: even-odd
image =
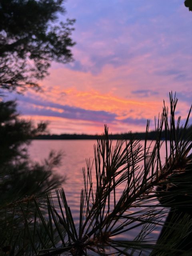
[[[50,150],[62,150],[62,164],[56,172],[67,177],[63,187],[76,223],[79,219],[80,192],[84,186],[82,167],[86,167],[86,158],[93,161],[94,144],[96,144],[96,140],[32,140],[29,147],[32,160],[38,162],[47,158]],[[162,154],[164,154],[164,150]],[[120,195],[123,188],[123,186],[119,187],[116,191],[117,194]],[[154,238],[157,237],[158,232],[158,230],[153,232]],[[138,230],[135,230],[135,233],[132,231],[131,234],[123,234],[121,238],[132,239],[137,233]]]

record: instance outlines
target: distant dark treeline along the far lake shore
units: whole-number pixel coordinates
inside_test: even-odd
[[[192,126],[188,128],[189,132],[191,132],[191,140],[192,140]],[[180,136],[182,134],[182,129],[180,129]],[[155,140],[156,139],[156,131],[148,132],[147,138],[148,140]],[[146,138],[146,132],[136,132],[136,133],[124,133],[124,134],[110,134],[109,138],[113,140],[118,139],[127,139],[130,140],[130,138],[135,138],[138,140],[144,140]],[[161,133],[161,139],[164,140],[164,138],[168,138],[169,136],[166,135],[165,131],[162,131]],[[44,134],[36,136],[32,139],[35,140],[97,140],[102,138],[102,135],[88,135],[88,134]]]

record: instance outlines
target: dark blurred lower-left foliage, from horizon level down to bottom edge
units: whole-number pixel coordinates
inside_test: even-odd
[[[30,160],[28,155],[28,139],[45,132],[46,124],[35,126],[22,120],[15,102],[0,102],[0,255],[6,250],[15,255],[15,248],[20,248],[17,253],[23,255],[30,248],[23,212],[27,220],[34,221],[34,197],[43,211],[46,193],[64,182],[65,177],[55,173],[62,156],[60,152],[50,152],[42,164]],[[42,234],[40,222],[37,230]]]

